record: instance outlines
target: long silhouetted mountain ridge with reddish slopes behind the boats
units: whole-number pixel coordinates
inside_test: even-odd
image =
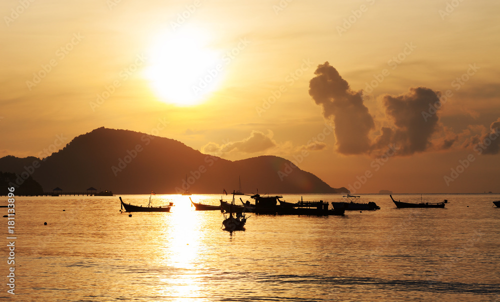
[[[229,161],[202,154],[164,137],[104,127],[75,137],[63,149],[44,158],[0,158],[0,171],[29,174],[51,191],[83,192],[88,187],[115,194],[344,193],[277,156]],[[22,174],[24,173],[24,174]]]

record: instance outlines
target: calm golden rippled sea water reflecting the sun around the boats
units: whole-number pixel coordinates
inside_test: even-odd
[[[393,196],[409,202],[421,198]],[[146,205],[148,197],[122,196],[138,205]],[[283,195],[282,200],[300,197]],[[220,195],[191,198],[216,205]],[[331,202],[341,196],[303,199]],[[422,199],[447,199],[449,204],[445,209],[396,209],[387,195],[362,195],[360,201],[374,201],[381,209],[350,211],[344,217],[252,214],[245,231],[228,233],[221,230],[220,211],[194,211],[187,196],[154,196],[155,205],[172,201],[175,207],[170,213],[132,217],[119,212],[118,196],[18,197],[16,294],[6,293],[10,266],[4,236],[0,298],[500,301],[500,208],[491,203],[500,195]],[[6,234],[7,219],[1,224]]]

